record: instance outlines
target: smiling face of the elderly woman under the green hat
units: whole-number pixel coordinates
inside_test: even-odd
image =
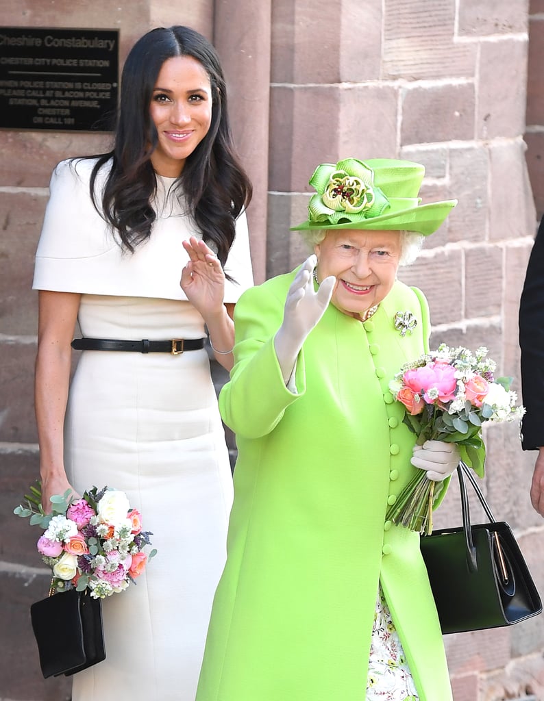
[[[314,246],[317,279],[334,275],[333,305],[344,314],[361,317],[390,292],[401,250],[399,231],[327,231]]]

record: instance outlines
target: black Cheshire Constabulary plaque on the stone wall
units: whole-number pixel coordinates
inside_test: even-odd
[[[111,131],[118,29],[0,27],[0,128]]]

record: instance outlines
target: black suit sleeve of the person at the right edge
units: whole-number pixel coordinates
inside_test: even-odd
[[[527,264],[519,304],[519,346],[522,349],[522,448],[544,446],[544,217]]]

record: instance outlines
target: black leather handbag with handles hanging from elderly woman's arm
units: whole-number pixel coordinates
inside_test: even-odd
[[[542,603],[510,526],[495,521],[467,465],[460,463],[457,474],[463,526],[420,540],[442,632],[512,625],[537,615]],[[489,524],[470,524],[465,476]]]

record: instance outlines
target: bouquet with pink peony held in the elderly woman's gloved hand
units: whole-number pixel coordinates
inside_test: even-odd
[[[525,413],[510,390],[511,378],[495,377],[496,363],[481,346],[472,353],[442,343],[437,351],[404,365],[390,382],[395,400],[404,404],[404,423],[416,444],[441,440],[458,444],[460,459],[484,476],[482,424],[519,421]],[[418,470],[399,494],[386,518],[426,535],[432,532],[434,482]]]

